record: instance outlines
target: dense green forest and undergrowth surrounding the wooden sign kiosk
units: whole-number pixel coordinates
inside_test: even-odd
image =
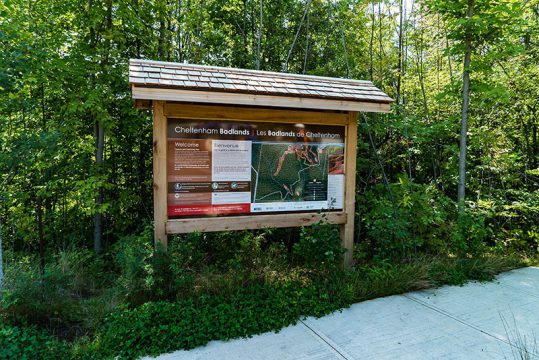
[[[436,285],[479,276],[436,277],[537,253],[537,0],[5,0],[0,44],[6,339],[37,331],[49,345],[36,340],[36,347],[67,346],[79,355],[159,353],[423,286],[413,279]],[[359,270],[351,298],[320,280],[331,269],[349,281],[333,266],[342,254],[331,227],[193,234],[172,239],[168,254],[152,250],[152,122],[133,106],[129,58],[366,79],[396,100],[391,114],[358,118]],[[418,270],[425,264],[427,279]],[[497,264],[493,271],[509,266]],[[387,283],[416,265],[412,285]],[[383,290],[365,290],[372,285],[365,279],[379,278]],[[275,284],[288,294],[285,285],[298,281],[314,284],[306,290],[312,306],[282,323],[257,320],[237,333],[211,333],[206,324],[208,334],[189,333],[192,341],[176,334],[185,341],[167,349],[123,343],[124,353],[117,343],[125,334],[110,330],[119,319],[131,326],[126,314],[151,312],[155,301],[179,306],[175,314],[186,311],[181,301],[203,311],[204,301],[221,303],[208,294]],[[271,314],[257,318],[264,316]]]

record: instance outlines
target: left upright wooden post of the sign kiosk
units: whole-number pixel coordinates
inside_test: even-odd
[[[153,213],[154,242],[167,249],[167,118],[165,102],[153,102]]]

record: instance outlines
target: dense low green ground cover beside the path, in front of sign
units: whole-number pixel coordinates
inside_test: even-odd
[[[314,285],[293,283],[251,286],[230,297],[148,302],[112,314],[99,334],[99,351],[135,358],[191,349],[210,340],[279,330],[302,316],[322,316],[345,305]]]

